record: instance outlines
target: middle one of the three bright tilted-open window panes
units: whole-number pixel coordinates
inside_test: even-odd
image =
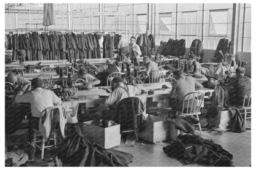
[[[197,12],[182,12],[182,36],[196,36]]]

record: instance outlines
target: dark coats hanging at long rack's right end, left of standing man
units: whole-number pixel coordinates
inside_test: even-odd
[[[114,38],[110,34],[103,37],[103,58],[112,58],[114,56]]]

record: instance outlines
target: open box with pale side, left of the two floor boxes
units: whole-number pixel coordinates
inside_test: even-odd
[[[93,120],[83,123],[83,132],[90,141],[95,142],[105,149],[121,144],[120,125],[102,128],[91,125]]]

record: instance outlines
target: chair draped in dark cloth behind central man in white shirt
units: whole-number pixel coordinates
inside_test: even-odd
[[[112,120],[120,124],[122,133],[134,132],[138,141],[138,131],[142,126],[142,114],[138,112],[140,99],[130,97],[122,99],[118,104],[116,114]]]

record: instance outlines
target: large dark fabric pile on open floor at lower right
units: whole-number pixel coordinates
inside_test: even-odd
[[[196,163],[202,166],[233,166],[233,155],[196,134],[180,134],[176,141],[163,148],[164,153],[177,158],[182,164]]]

